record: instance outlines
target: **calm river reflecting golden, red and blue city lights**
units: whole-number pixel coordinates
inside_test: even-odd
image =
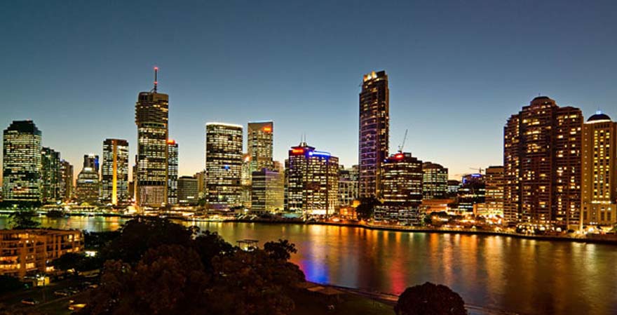
[[[0,228],[6,226],[0,217]],[[41,217],[45,227],[105,231],[116,217]],[[372,231],[302,224],[184,222],[226,241],[289,239],[320,283],[399,294],[444,283],[470,304],[522,314],[617,314],[617,246],[506,236]]]

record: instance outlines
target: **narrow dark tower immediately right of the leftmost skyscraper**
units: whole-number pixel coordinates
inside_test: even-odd
[[[62,200],[60,196],[61,181],[60,152],[43,147],[41,150],[41,200],[53,203]]]

